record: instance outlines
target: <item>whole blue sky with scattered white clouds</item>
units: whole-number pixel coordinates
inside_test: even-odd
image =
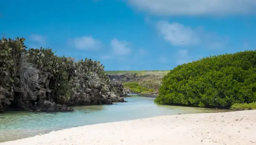
[[[256,0],[5,0],[0,33],[106,70],[170,70],[255,50]]]

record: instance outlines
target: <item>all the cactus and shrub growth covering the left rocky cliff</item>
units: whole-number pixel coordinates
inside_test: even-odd
[[[0,41],[0,94],[7,99],[13,97],[13,87],[19,87],[24,95],[28,94],[34,100],[40,83],[49,84],[46,88],[51,89],[52,99],[59,104],[64,104],[72,96],[83,95],[79,91],[84,88],[97,88],[102,94],[109,91],[110,79],[99,61],[74,61],[56,56],[49,48],[26,49],[24,41],[24,38],[3,38]],[[45,73],[51,77],[46,77]],[[50,82],[45,83],[47,78]],[[20,80],[22,85],[15,84],[14,79]]]

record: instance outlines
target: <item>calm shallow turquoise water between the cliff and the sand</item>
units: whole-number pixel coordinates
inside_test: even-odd
[[[5,112],[0,114],[0,142],[97,123],[179,113],[216,112],[215,109],[158,105],[154,104],[154,98],[149,97],[133,96],[125,98],[125,100],[128,102],[103,106],[74,107],[74,112]],[[217,112],[220,112],[220,110]]]

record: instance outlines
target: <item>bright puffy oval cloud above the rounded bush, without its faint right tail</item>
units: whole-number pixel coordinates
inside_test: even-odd
[[[174,46],[187,46],[200,43],[198,34],[192,28],[183,24],[159,21],[156,27],[164,39]]]

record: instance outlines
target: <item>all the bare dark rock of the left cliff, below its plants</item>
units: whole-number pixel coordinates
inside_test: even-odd
[[[20,79],[15,77],[15,87],[13,87],[12,97],[5,97],[0,94],[0,112],[7,109],[26,110],[33,112],[64,112],[73,111],[69,106],[77,105],[101,105],[113,104],[113,102],[125,102],[123,96],[123,84],[120,81],[111,81],[109,92],[103,93],[102,86],[90,85],[89,81],[79,79],[79,89],[70,96],[64,104],[56,104],[56,96],[54,91],[50,88],[52,83],[52,75],[47,72],[41,72],[42,78],[38,86],[35,86],[34,95],[26,97],[21,88]],[[87,82],[84,84],[84,82]]]

